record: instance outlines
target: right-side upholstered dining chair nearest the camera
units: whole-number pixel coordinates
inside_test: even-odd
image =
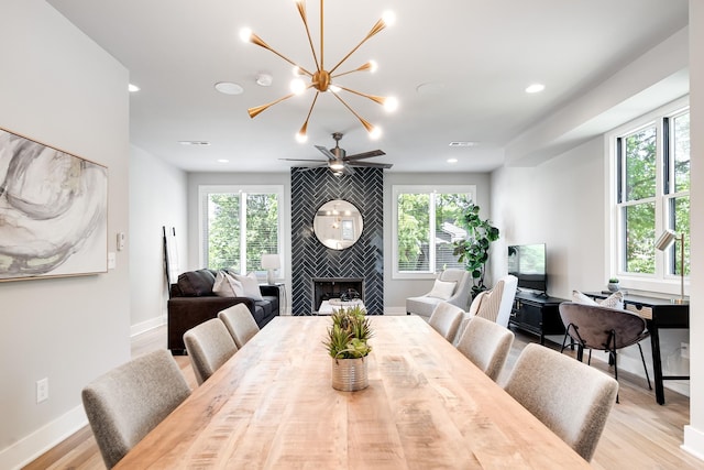
[[[616,401],[618,382],[558,351],[529,343],[505,390],[590,461]]]

